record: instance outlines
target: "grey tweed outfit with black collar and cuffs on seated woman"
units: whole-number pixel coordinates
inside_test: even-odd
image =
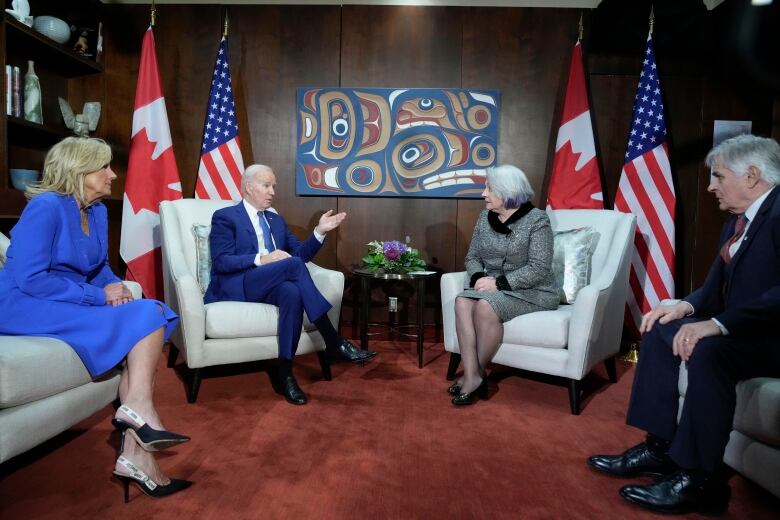
[[[552,256],[547,213],[526,203],[501,222],[497,213],[483,210],[466,254],[469,287],[458,296],[486,300],[502,323],[521,314],[556,309],[560,296]],[[499,290],[474,290],[482,276],[495,277]]]

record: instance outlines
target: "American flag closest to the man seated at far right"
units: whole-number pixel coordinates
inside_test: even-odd
[[[666,120],[651,33],[615,197],[615,209],[637,218],[626,303],[626,323],[634,332],[638,332],[644,313],[661,300],[674,297],[674,208]]]

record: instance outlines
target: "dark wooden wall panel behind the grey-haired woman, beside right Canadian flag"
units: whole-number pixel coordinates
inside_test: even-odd
[[[514,164],[526,173],[538,207],[546,200],[548,144],[558,127],[553,114],[578,19],[579,11],[572,9],[476,7],[468,8],[464,17],[463,88],[501,91],[498,163]],[[482,201],[458,203],[458,269],[463,268],[474,223],[484,207]]]

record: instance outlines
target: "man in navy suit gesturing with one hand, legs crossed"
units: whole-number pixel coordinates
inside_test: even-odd
[[[211,283],[204,299],[270,303],[279,307],[279,377],[284,397],[305,404],[306,394],[292,374],[303,313],[322,334],[333,359],[363,362],[376,355],[355,348],[333,328],[330,303],[320,294],[306,268],[319,251],[325,234],[339,226],[346,213],[327,211],[303,242],[284,219],[268,210],[276,177],[270,167],[254,164],[241,178],[243,200],[214,212],[211,219]]]

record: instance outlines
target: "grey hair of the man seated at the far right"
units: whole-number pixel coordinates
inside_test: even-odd
[[[710,150],[704,160],[713,168],[720,161],[737,175],[745,175],[750,166],[761,170],[761,178],[769,184],[780,184],[780,145],[769,137],[752,134],[726,139]]]

